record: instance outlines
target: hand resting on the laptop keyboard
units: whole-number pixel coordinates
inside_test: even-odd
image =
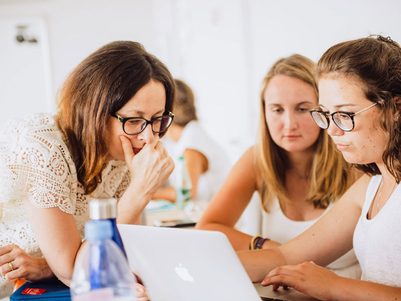
[[[319,300],[325,300],[330,297],[327,283],[331,283],[330,287],[333,288],[340,278],[331,270],[321,267],[313,261],[307,261],[298,265],[284,265],[275,268],[266,275],[262,285],[273,285],[273,290],[280,286],[293,287]]]

